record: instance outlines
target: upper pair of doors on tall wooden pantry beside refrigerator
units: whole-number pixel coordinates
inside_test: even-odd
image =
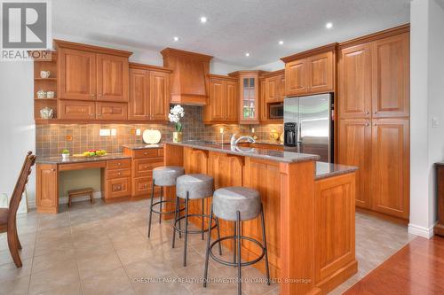
[[[409,115],[409,34],[387,36],[339,50],[339,117]]]

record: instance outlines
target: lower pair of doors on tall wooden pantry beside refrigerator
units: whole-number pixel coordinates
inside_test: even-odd
[[[408,220],[409,120],[339,120],[337,163],[359,167],[356,206]]]

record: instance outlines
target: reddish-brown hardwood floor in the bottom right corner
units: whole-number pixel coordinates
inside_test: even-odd
[[[416,237],[344,294],[444,294],[444,238]]]

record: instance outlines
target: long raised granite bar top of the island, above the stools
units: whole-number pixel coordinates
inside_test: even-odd
[[[291,151],[273,151],[273,150],[255,149],[255,148],[240,147],[240,146],[232,147],[230,144],[215,144],[203,141],[184,141],[181,143],[167,142],[166,144],[175,144],[180,146],[197,148],[205,151],[226,152],[229,154],[251,157],[251,158],[270,159],[285,163],[295,163],[295,162],[316,160],[321,158],[318,155],[311,155],[306,153],[298,153]]]

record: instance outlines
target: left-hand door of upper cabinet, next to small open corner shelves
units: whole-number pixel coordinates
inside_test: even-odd
[[[83,50],[59,49],[58,97],[96,99],[96,55]]]

